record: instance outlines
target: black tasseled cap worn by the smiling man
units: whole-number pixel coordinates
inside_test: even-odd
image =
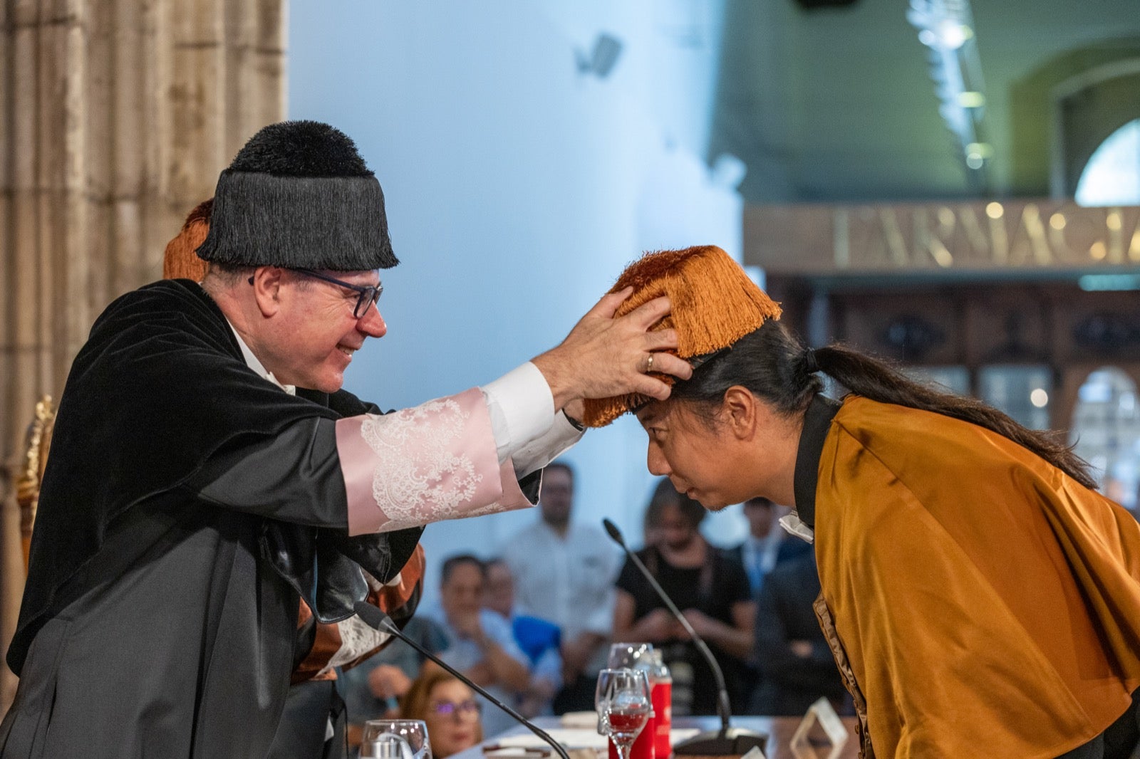
[[[317,121],[270,124],[250,138],[218,178],[197,254],[335,271],[399,263],[380,182],[344,132]]]

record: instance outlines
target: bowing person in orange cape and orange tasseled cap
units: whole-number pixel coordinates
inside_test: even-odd
[[[1131,754],[1140,524],[1084,462],[868,356],[806,349],[719,248],[648,255],[627,285],[624,309],[670,295],[660,326],[693,376],[665,401],[588,402],[587,423],[636,410],[650,471],[707,508],[795,506],[864,757]]]

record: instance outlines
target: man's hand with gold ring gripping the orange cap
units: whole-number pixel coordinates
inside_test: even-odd
[[[649,330],[669,312],[667,297],[654,299],[624,317],[613,317],[632,292],[627,287],[603,296],[561,344],[534,359],[551,385],[555,409],[577,399],[626,393],[665,400],[669,397],[669,385],[645,374],[650,357],[653,372],[681,379],[692,376],[687,361],[663,352],[677,346],[677,333]]]

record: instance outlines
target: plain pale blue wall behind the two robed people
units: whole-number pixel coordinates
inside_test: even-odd
[[[486,382],[557,342],[644,250],[739,258],[741,202],[702,162],[723,0],[299,0],[290,116],[353,137],[384,188],[401,264],[389,334],[347,386],[401,407]],[[598,33],[606,79],[577,71]],[[591,432],[576,517],[641,534],[652,483],[635,421]],[[492,554],[532,512],[432,525],[430,561]],[[741,527],[709,520],[714,538]],[[429,582],[434,590],[434,580]]]

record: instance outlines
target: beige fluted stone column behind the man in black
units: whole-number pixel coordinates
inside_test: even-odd
[[[23,589],[13,481],[35,401],[260,126],[285,0],[0,0],[0,651]],[[15,693],[0,666],[0,713]]]

